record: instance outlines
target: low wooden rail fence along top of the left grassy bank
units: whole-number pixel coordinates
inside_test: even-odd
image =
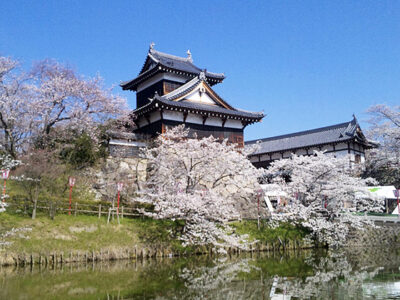
[[[30,213],[33,210],[34,204],[26,198],[12,197],[7,199],[7,210],[14,210],[18,212],[24,212],[25,214]],[[72,201],[71,209],[69,207],[68,200],[64,201],[54,201],[54,200],[38,200],[36,204],[37,211],[48,212],[51,217],[54,217],[57,213],[61,214],[88,214],[97,215],[99,218],[102,215],[109,215],[110,211],[115,213],[116,206],[111,202],[93,202],[92,203],[82,203],[79,201]],[[151,211],[150,207],[141,207],[137,204],[132,205],[121,205],[119,207],[119,215],[121,218],[124,217],[142,217],[144,211]]]

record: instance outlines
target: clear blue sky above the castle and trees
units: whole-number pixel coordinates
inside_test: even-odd
[[[224,72],[215,90],[260,111],[245,139],[327,126],[400,103],[400,1],[2,1],[0,55],[54,58],[107,85],[134,78],[150,42]],[[135,94],[115,91],[128,98]]]

